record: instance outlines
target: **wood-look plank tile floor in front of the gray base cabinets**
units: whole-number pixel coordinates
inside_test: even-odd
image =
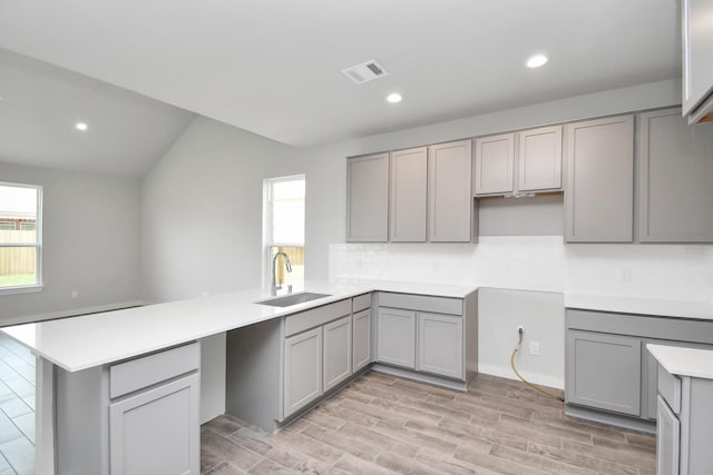
[[[654,436],[564,415],[519,382],[467,393],[368,373],[277,434],[202,427],[205,474],[621,474],[655,471]]]

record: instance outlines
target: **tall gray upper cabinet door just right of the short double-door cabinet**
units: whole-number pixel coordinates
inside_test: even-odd
[[[566,240],[631,243],[633,178],[633,116],[568,125]]]

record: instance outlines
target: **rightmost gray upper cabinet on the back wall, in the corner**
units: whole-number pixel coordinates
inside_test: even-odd
[[[680,109],[641,115],[638,239],[713,241],[713,125]]]

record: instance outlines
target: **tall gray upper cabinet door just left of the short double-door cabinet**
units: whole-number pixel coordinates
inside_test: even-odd
[[[429,239],[469,243],[473,212],[471,141],[428,148]]]

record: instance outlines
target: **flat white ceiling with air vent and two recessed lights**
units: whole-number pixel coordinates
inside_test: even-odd
[[[145,96],[116,89],[105,103],[86,80],[78,103],[153,98],[297,147],[675,78],[680,34],[675,0],[0,0],[0,48]],[[549,62],[526,68],[536,52]],[[389,75],[355,85],[341,72],[371,59]],[[392,91],[401,103],[384,101]],[[152,110],[170,130],[188,117]]]

